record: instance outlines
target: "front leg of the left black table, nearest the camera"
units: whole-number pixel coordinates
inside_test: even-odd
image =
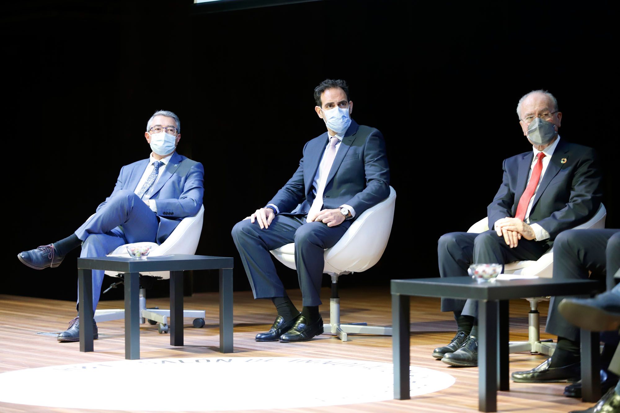
[[[140,358],[140,274],[125,273],[125,359]]]

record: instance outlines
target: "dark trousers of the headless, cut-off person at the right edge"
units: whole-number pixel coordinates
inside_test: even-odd
[[[606,277],[607,289],[615,285],[614,273],[620,268],[620,229],[569,229],[560,233],[553,245],[553,278],[562,280]],[[589,275],[589,272],[592,275]],[[577,340],[579,329],[557,311],[563,296],[549,303],[546,331]]]

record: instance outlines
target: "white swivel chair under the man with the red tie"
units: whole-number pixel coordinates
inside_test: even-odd
[[[601,203],[595,215],[587,222],[576,226],[573,229],[596,229],[605,228],[605,218],[607,211]],[[484,218],[473,224],[468,233],[482,233],[489,230],[489,220]],[[504,265],[505,274],[510,275],[526,275],[539,278],[553,277],[553,249],[542,254],[536,261],[516,261]],[[551,339],[540,339],[540,314],[538,313],[538,303],[540,301],[549,301],[549,297],[531,297],[525,298],[529,301],[528,313],[528,340],[527,341],[511,341],[508,344],[510,353],[519,353],[529,351],[532,354],[544,354],[551,356],[556,349],[556,343]]]

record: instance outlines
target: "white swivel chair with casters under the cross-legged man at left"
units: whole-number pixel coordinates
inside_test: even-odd
[[[167,254],[195,254],[198,247],[198,241],[200,239],[200,233],[202,231],[203,218],[205,215],[205,207],[201,206],[198,213],[194,216],[188,216],[180,221],[177,228],[172,231],[166,241],[161,245],[157,245],[155,242],[135,242],[134,244],[125,244],[112,251],[112,255],[127,255],[126,247],[130,245],[134,246],[151,246],[149,256],[167,255]],[[122,274],[106,271],[105,274],[112,277],[123,277]],[[140,273],[141,286],[139,290],[139,308],[140,308],[140,324],[149,322],[149,324],[159,324],[159,334],[167,333],[169,330],[170,310],[158,309],[158,308],[146,308],[146,288],[143,288],[143,282],[148,283],[146,280],[166,280],[170,278],[170,272],[168,271],[156,271]],[[122,281],[114,283],[110,288],[114,288],[115,285],[122,283]],[[109,289],[109,288],[108,288]],[[106,290],[107,291],[107,290]],[[105,291],[104,291],[105,293]],[[205,311],[204,310],[184,310],[183,316],[187,318],[193,318],[193,326],[201,328],[205,326]],[[95,311],[95,321],[112,321],[125,318],[124,309],[104,309]]]

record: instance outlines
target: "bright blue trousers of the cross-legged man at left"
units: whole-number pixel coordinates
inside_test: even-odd
[[[103,257],[123,244],[156,242],[159,220],[151,208],[130,190],[120,190],[78,228],[80,257]],[[92,270],[92,308],[99,303],[103,270]]]

